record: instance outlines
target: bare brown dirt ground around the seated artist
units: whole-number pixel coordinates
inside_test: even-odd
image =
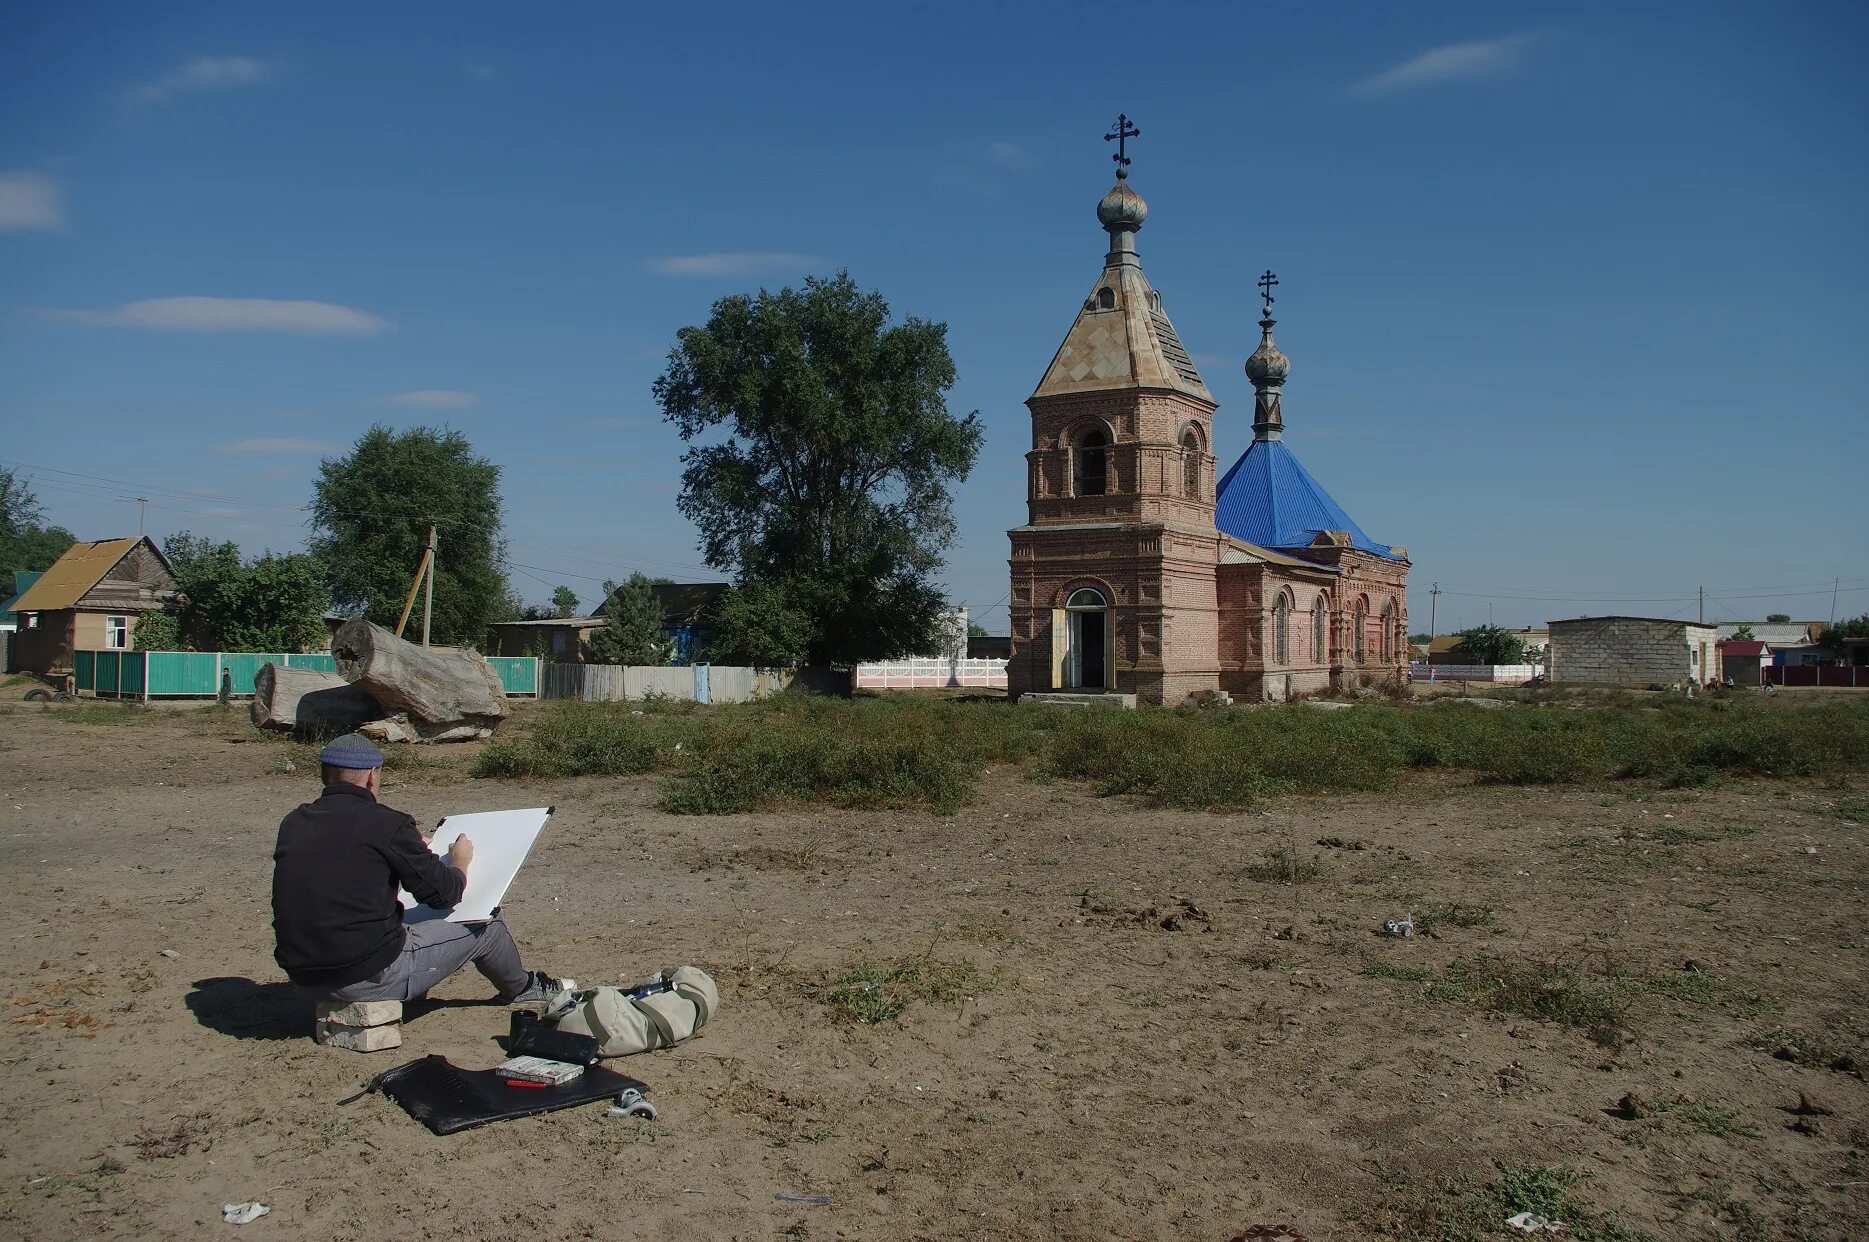
[[[1196,814],[998,771],[951,818],[692,818],[654,779],[473,781],[456,749],[385,799],[424,824],[557,807],[506,902],[531,966],[693,962],[723,1005],[619,1065],[656,1124],[589,1106],[434,1137],[340,1100],[432,1051],[497,1063],[505,1010],[469,973],[398,1051],[312,1044],[271,958],[275,827],[314,796],[292,753],[239,710],[0,704],[0,1233],[193,1238],[260,1199],[243,1235],[333,1242],[1323,1242],[1419,1227],[1499,1160],[1583,1173],[1630,1236],[1869,1238],[1862,783],[1439,779]],[[1467,917],[1379,934],[1447,908]],[[824,1003],[916,954],[981,986],[878,1025]],[[1432,982],[1482,954],[1568,962],[1620,1014]]]

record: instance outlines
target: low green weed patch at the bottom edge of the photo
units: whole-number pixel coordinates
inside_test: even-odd
[[[1495,1164],[1484,1186],[1471,1178],[1443,1180],[1422,1192],[1404,1188],[1385,1207],[1377,1223],[1404,1242],[1486,1242],[1505,1233],[1508,1216],[1536,1212],[1564,1221],[1564,1236],[1577,1242],[1654,1242],[1596,1212],[1574,1193],[1581,1173],[1561,1165]]]

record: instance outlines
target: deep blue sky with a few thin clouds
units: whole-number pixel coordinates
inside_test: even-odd
[[[80,538],[303,540],[320,454],[447,422],[514,583],[712,577],[650,383],[716,297],[849,267],[949,325],[987,441],[948,586],[1004,631],[1024,398],[1138,247],[1250,439],[1411,628],[1869,611],[1860,4],[13,4],[0,459]],[[60,473],[62,471],[62,473]],[[108,480],[108,482],[99,482]]]

